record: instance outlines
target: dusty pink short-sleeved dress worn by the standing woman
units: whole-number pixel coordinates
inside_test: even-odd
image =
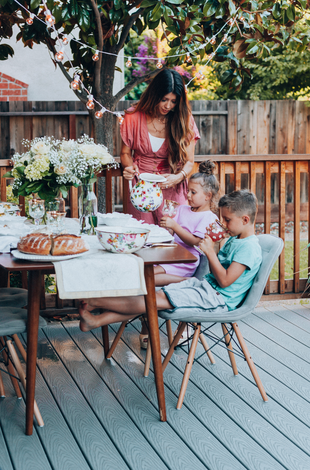
[[[133,107],[129,108],[129,111],[132,110],[134,110]],[[200,139],[200,135],[193,116],[190,116],[190,125],[194,132],[196,144],[197,139]],[[133,161],[138,166],[140,173],[171,173],[168,164],[169,151],[166,141],[164,141],[157,152],[152,151],[145,113],[140,111],[133,114],[125,113],[124,122],[120,129],[123,142],[129,149],[134,150]],[[132,180],[132,185],[134,186],[136,183],[137,179],[135,176],[134,180]],[[144,220],[148,224],[159,225],[165,199],[170,199],[179,204],[187,204],[186,181],[172,188],[162,189],[162,193],[163,203],[153,212],[137,211],[131,204],[128,193],[128,213],[132,214],[137,220]]]

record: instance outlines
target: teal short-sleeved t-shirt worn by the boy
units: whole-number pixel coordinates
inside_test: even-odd
[[[228,310],[234,310],[252,285],[262,262],[262,250],[255,235],[242,239],[230,237],[223,248],[219,250],[218,258],[225,269],[233,261],[247,266],[241,276],[228,287],[220,287],[212,273],[204,276],[213,289],[216,289],[223,296]]]

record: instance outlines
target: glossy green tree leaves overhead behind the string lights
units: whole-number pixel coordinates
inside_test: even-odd
[[[44,8],[40,1],[31,0],[30,5],[27,2],[24,5],[44,20]],[[141,35],[146,27],[154,30],[163,22],[169,38],[168,67],[183,64],[186,54],[190,55],[194,65],[200,63],[204,54],[214,52],[224,34],[228,34],[220,54],[212,59],[227,64],[221,78],[223,86],[228,87],[226,94],[229,90],[240,91],[246,77],[251,75],[252,68],[250,65],[245,67],[244,60],[250,63],[265,60],[272,48],[278,45],[301,53],[310,41],[309,2],[306,0],[270,0],[264,3],[256,0],[144,0],[141,4],[131,0],[99,0],[97,5],[101,14],[103,50],[112,54],[123,47],[130,29]],[[55,16],[56,30],[64,28],[65,34],[73,31],[79,39],[80,43],[70,41],[73,66],[84,84],[92,87],[95,73],[95,63],[91,59],[93,51],[85,46],[91,46],[93,50],[98,48],[98,26],[91,1],[62,0],[54,3],[51,0],[47,6]],[[20,7],[11,0],[1,0],[0,37],[11,37],[12,26],[17,23],[20,28],[17,40],[22,40],[28,47],[32,47],[33,43],[45,43],[54,53],[56,40],[53,31],[48,31],[37,19],[31,25],[23,23],[21,16],[25,20],[28,13],[23,10],[21,13]],[[229,20],[233,16],[236,16],[236,22],[230,26]],[[215,34],[216,44],[211,45],[210,39]],[[12,54],[13,50],[2,45],[0,60]],[[115,58],[105,58],[106,63],[108,60],[114,61]],[[69,62],[64,65],[68,70],[71,67]]]

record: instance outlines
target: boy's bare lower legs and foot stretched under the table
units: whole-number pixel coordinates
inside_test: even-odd
[[[156,293],[156,302],[158,310],[173,308],[162,290]],[[96,307],[105,308],[107,311],[100,313],[100,315],[92,315],[90,310]],[[132,312],[135,313],[133,314]],[[138,313],[145,313],[144,296],[83,299],[79,306],[81,317],[80,329],[82,331],[89,331],[99,326],[131,320]]]

